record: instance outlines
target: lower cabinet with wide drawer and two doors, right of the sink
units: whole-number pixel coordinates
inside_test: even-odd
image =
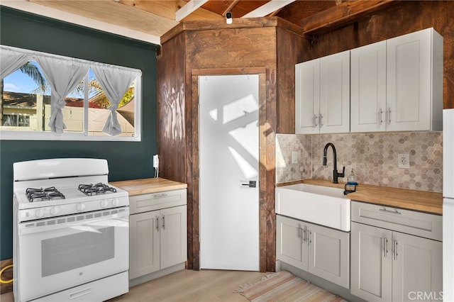
[[[362,222],[351,225],[353,295],[367,301],[442,300],[442,242],[420,237],[423,232],[438,239],[441,216],[412,212],[352,203],[352,220]],[[419,234],[383,228],[411,232],[409,225]]]

